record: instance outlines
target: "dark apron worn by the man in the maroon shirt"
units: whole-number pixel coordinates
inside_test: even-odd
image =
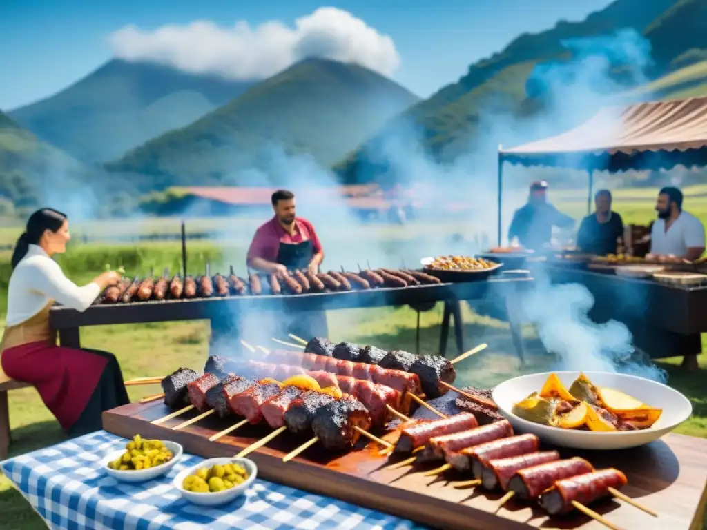
[[[281,242],[276,261],[286,266],[288,271],[294,271],[307,269],[313,256],[311,240],[296,244]],[[288,334],[304,338],[305,341],[312,337],[325,337],[328,334],[327,314],[324,311],[288,313],[279,322],[282,324],[278,326],[276,336],[281,336],[284,340],[289,340]]]

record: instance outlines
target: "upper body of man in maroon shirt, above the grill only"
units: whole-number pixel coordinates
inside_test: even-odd
[[[322,244],[312,223],[296,216],[295,194],[279,189],[272,194],[275,216],[255,231],[247,265],[264,273],[293,269],[319,272]]]

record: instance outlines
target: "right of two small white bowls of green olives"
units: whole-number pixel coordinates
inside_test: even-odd
[[[189,502],[218,506],[243,495],[257,471],[255,462],[247,458],[212,458],[179,473],[173,485]]]

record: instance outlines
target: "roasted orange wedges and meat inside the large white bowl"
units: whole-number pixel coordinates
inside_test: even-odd
[[[650,428],[662,409],[617,389],[595,387],[584,374],[568,390],[551,374],[539,393],[533,392],[513,406],[513,413],[552,427],[612,432]]]

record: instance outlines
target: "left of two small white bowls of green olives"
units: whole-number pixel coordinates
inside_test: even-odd
[[[124,449],[107,454],[102,464],[107,473],[119,481],[151,481],[170,471],[183,452],[176,442],[145,440],[135,435]]]

